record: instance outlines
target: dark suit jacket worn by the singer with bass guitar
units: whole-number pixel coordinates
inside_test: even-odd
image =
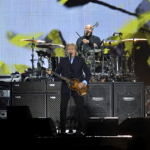
[[[87,83],[89,83],[89,80],[91,78],[91,72],[87,64],[85,63],[85,60],[82,57],[75,56],[73,63],[71,65],[72,68],[72,78],[76,78],[79,80],[79,82],[82,82],[83,80],[86,80]],[[62,58],[60,60],[60,63],[56,69],[58,74],[61,74],[61,76],[66,78],[70,77],[70,61],[68,57]],[[83,74],[84,72],[84,74]],[[62,93],[68,93],[70,90],[68,88],[68,84],[62,80],[62,86],[61,86],[61,92]]]

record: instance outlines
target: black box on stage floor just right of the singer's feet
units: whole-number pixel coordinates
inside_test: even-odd
[[[86,121],[85,132],[90,136],[117,136],[117,117],[89,117]]]

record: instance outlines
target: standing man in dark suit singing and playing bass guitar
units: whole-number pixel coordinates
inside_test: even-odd
[[[79,80],[78,87],[82,87],[89,84],[91,78],[91,72],[86,65],[82,57],[76,56],[77,46],[74,43],[67,44],[66,46],[67,53],[69,57],[62,58],[56,69],[56,73],[61,74],[61,76],[68,79],[76,78]],[[84,74],[83,74],[84,72]],[[51,74],[51,71],[47,71],[48,74]],[[71,93],[70,93],[71,92]],[[60,129],[61,133],[66,131],[66,113],[68,101],[70,99],[70,94],[73,97],[77,113],[78,113],[78,131],[81,133],[84,130],[84,97],[80,96],[77,91],[70,90],[66,81],[62,80],[61,85],[61,103],[60,103]]]

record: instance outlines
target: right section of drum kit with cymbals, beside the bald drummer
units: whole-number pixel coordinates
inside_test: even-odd
[[[112,42],[118,41],[104,41],[103,46],[101,49],[91,49],[86,52],[84,59],[89,66],[92,78],[91,82],[117,82],[117,81],[131,81],[136,82],[137,77],[134,71],[134,64],[135,64],[135,43],[134,41],[146,41],[147,39],[141,38],[131,38],[131,39],[124,39],[121,42],[133,42],[133,49],[132,55],[126,55],[128,51],[120,49],[120,55],[115,53],[116,55],[112,54],[113,51],[117,51],[111,46]],[[104,46],[105,43],[109,43],[109,46]],[[105,54],[105,49],[107,48],[108,53]]]

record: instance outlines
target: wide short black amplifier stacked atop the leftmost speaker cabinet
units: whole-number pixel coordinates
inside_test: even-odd
[[[46,82],[12,82],[12,93],[46,93]]]

